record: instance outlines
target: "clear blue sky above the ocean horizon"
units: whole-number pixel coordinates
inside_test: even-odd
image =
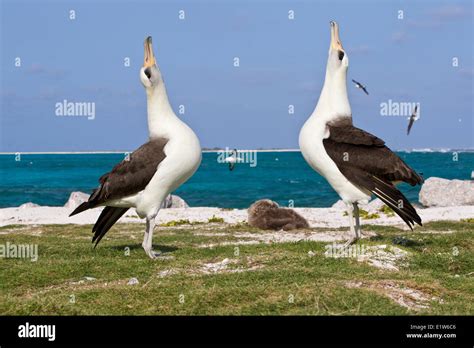
[[[147,35],[171,104],[175,111],[185,105],[180,117],[203,147],[296,148],[323,83],[332,19],[349,56],[348,78],[370,93],[348,85],[356,126],[394,149],[474,147],[472,1],[2,0],[1,6],[2,152],[127,151],[144,143],[138,72]],[[64,99],[95,103],[95,119],[56,116]],[[406,117],[380,114],[389,99],[421,103],[409,137]]]

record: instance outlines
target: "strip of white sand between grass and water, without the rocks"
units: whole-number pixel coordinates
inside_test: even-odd
[[[294,208],[299,214],[305,217],[311,227],[344,227],[348,225],[345,210],[342,207],[333,208]],[[377,212],[368,209],[369,212]],[[430,221],[460,221],[461,219],[473,218],[473,206],[452,206],[452,207],[432,207],[417,208],[419,215],[424,223]],[[0,209],[0,226],[5,225],[34,225],[34,224],[94,224],[101,209],[93,209],[82,214],[69,217],[71,209],[65,207],[14,207]],[[391,225],[401,228],[408,227],[398,216],[387,216],[382,212],[377,212],[379,218],[362,219],[362,224]],[[236,224],[247,221],[246,209],[220,209],[212,207],[194,207],[194,208],[171,208],[160,210],[157,223],[166,223],[187,219],[190,222],[208,222],[212,217],[224,219],[224,222]],[[120,222],[126,223],[144,223],[136,215],[134,209],[130,209]]]

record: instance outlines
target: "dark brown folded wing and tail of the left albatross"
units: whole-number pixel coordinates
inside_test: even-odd
[[[155,139],[140,146],[110,172],[102,175],[99,179],[99,187],[92,192],[89,200],[78,206],[69,216],[144,190],[155,175],[158,165],[166,157],[164,153],[166,143],[166,139]],[[128,208],[110,206],[106,206],[102,210],[92,228],[94,233],[92,242],[95,241],[96,246],[127,210]]]

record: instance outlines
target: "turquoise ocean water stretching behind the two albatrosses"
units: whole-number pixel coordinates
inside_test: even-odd
[[[399,152],[399,156],[425,178],[470,179],[474,153]],[[0,155],[0,207],[33,202],[62,206],[72,191],[90,193],[98,178],[124,158],[123,154],[22,154]],[[315,173],[299,152],[258,152],[257,165],[237,164],[229,171],[218,163],[217,153],[204,153],[196,174],[175,193],[190,206],[247,208],[258,199],[269,198],[280,205],[327,207],[339,198]],[[402,184],[412,202],[419,187]],[[449,194],[448,192],[446,194]]]

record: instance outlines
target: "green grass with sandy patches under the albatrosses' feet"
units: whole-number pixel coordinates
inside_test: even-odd
[[[398,272],[326,258],[328,243],[236,245],[249,233],[264,232],[218,222],[157,227],[154,247],[165,255],[158,260],[140,246],[143,224],[118,224],[96,249],[91,226],[2,227],[0,245],[37,244],[39,258],[0,258],[0,314],[474,314],[472,222],[428,223],[415,232],[365,225],[376,236],[362,245],[395,242],[409,252]],[[220,245],[203,247],[209,244]],[[224,271],[206,266],[225,259]],[[127,285],[130,278],[139,284]],[[351,288],[348,282],[365,285]],[[380,290],[387,283],[425,294],[426,308],[401,306]]]

